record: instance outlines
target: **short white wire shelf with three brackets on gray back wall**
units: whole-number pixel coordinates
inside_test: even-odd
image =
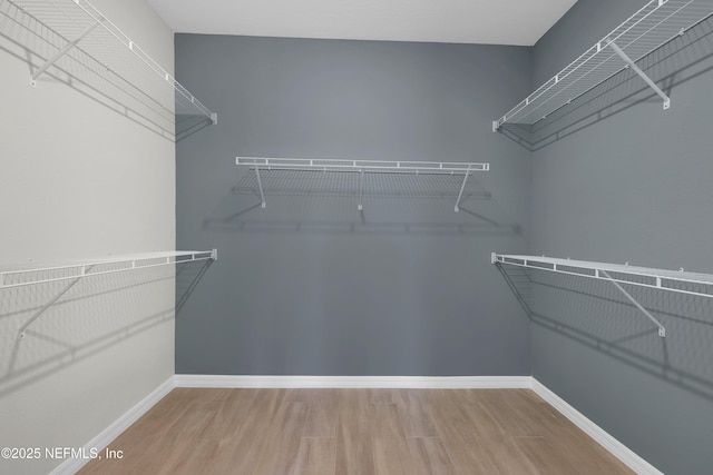
[[[244,165],[255,171],[260,190],[261,206],[266,207],[263,190],[261,170],[295,170],[314,172],[352,172],[359,174],[359,204],[356,209],[363,210],[362,198],[364,196],[365,174],[402,174],[402,175],[452,175],[462,176],[462,184],[456,199],[456,212],[468,182],[468,177],[476,171],[490,170],[490,164],[441,162],[441,161],[379,161],[379,160],[341,160],[341,159],[306,159],[306,158],[258,158],[237,157],[236,165]]]

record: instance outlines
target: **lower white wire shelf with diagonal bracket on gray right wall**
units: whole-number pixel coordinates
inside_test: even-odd
[[[656,290],[673,291],[713,298],[713,275],[681,270],[655,269],[629,265],[590,263],[586,260],[558,259],[539,256],[499,255],[492,253],[490,261],[497,265],[526,267],[537,270],[567,274],[570,276],[606,280],[613,284],[632,304],[658,327],[658,335],[666,336],[666,329],[646,310],[622,284]]]

